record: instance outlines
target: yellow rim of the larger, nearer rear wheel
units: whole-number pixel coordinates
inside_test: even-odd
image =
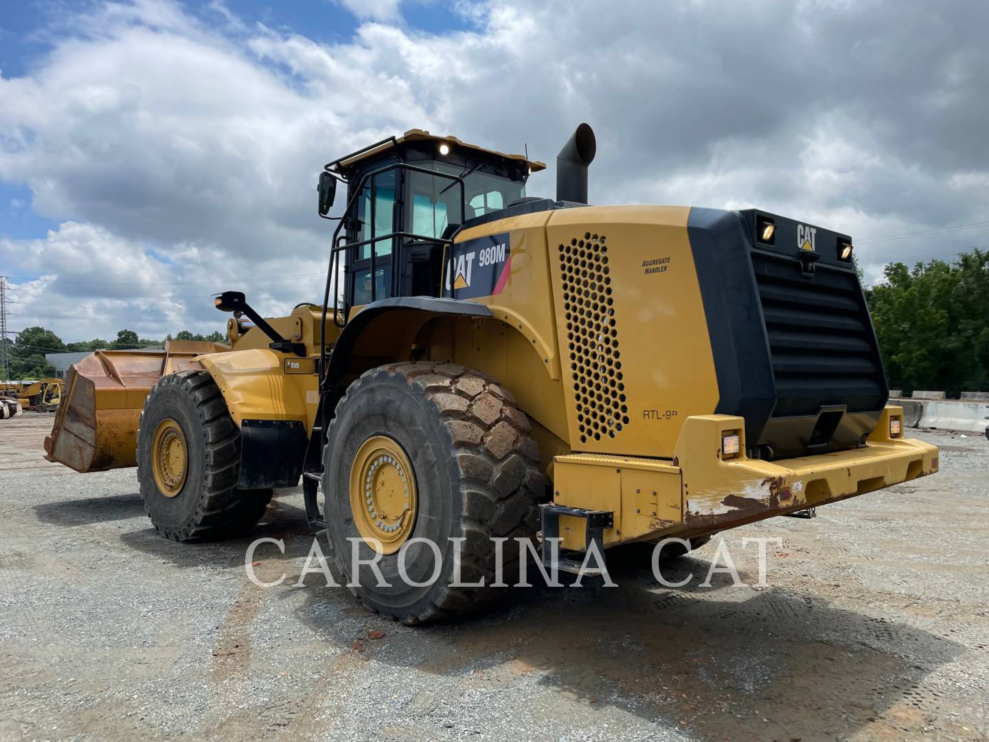
[[[394,554],[411,535],[417,503],[415,473],[399,442],[387,435],[365,440],[350,468],[357,532],[378,539],[381,553]]]

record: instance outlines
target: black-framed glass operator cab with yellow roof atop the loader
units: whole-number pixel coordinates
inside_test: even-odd
[[[347,185],[334,232],[334,306],[341,278],[344,318],[352,307],[379,299],[438,296],[443,252],[454,232],[525,199],[528,176],[545,168],[519,154],[417,129],[326,164],[321,217],[330,219],[335,180]]]

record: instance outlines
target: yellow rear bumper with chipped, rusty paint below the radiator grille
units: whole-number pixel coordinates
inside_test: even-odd
[[[723,457],[725,432],[744,436],[742,417],[687,417],[673,461],[570,454],[554,465],[554,503],[614,513],[604,544],[694,536],[773,515],[864,495],[938,471],[938,449],[921,440],[890,437],[887,406],[862,448],[763,461]],[[902,427],[901,427],[902,429]],[[745,440],[742,451],[746,450]],[[584,548],[584,527],[561,520],[564,548]]]

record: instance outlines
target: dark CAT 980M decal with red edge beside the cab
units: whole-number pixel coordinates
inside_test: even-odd
[[[451,245],[443,268],[443,296],[477,299],[500,294],[508,282],[511,244],[508,232]]]

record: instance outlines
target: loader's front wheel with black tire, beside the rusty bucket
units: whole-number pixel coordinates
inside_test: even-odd
[[[171,469],[161,463],[168,460],[161,453],[168,445],[165,435]],[[240,430],[213,377],[206,371],[161,377],[144,402],[137,430],[137,481],[154,529],[173,541],[242,534],[264,515],[272,491],[239,490],[239,476]]]

